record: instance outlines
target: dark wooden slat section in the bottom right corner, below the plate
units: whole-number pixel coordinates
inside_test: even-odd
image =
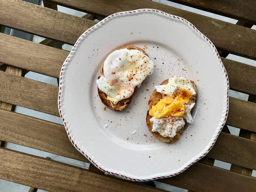
[[[158,181],[197,192],[256,191],[255,177],[240,175],[202,163],[195,163],[175,177]]]

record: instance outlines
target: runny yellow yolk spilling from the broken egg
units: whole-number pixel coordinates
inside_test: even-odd
[[[156,105],[152,106],[149,115],[157,119],[167,115],[182,116],[185,112],[184,104],[188,103],[191,98],[192,94],[188,90],[178,90],[173,97],[161,99]]]

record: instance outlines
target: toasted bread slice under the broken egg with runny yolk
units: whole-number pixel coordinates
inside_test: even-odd
[[[197,87],[195,85],[195,82],[194,81],[191,81],[191,82],[193,84],[193,88],[195,89],[195,93],[196,94],[193,95],[193,97],[189,100],[189,104],[192,104],[192,103],[196,102],[196,100],[197,100],[197,93],[198,93],[198,90],[197,90]],[[168,79],[163,81],[161,83],[161,85],[167,84],[167,83],[168,83]],[[154,92],[152,93],[152,95],[151,95],[151,97],[150,97],[150,99],[148,101],[149,110],[151,110],[152,106],[156,105],[160,101],[160,99],[163,99],[162,94],[157,92],[157,90],[154,90]],[[193,108],[191,110],[191,113],[192,112],[193,112]],[[184,119],[185,120],[185,125],[183,126],[183,128],[181,128],[179,131],[176,132],[175,137],[163,137],[162,135],[160,135],[160,133],[152,131],[153,123],[150,122],[150,120],[149,120],[151,118],[152,118],[152,116],[149,115],[149,111],[148,111],[147,117],[146,117],[146,122],[147,122],[148,130],[154,135],[154,137],[156,137],[158,140],[163,141],[165,143],[173,143],[173,142],[179,140],[180,135],[183,134],[183,130],[184,130],[184,128],[187,125],[186,119]]]

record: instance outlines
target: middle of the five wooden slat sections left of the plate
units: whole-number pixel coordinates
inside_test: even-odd
[[[0,101],[59,116],[58,87],[0,71]]]

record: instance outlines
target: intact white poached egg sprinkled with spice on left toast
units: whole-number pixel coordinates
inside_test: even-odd
[[[113,104],[127,99],[154,71],[154,63],[137,49],[119,49],[106,58],[103,73],[96,83],[99,90],[108,95]]]

